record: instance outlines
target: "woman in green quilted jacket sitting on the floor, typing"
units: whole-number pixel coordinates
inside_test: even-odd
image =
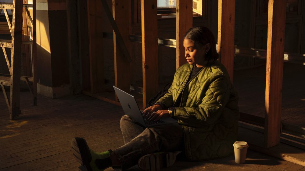
[[[233,152],[238,96],[217,61],[214,36],[206,27],[193,27],[183,46],[188,63],[177,69],[168,93],[144,110],[150,120],[173,117],[177,124],[145,128],[124,115],[120,127],[125,145],[102,153],[92,151],[82,138],[72,139],[75,158],[88,170],[127,169],[137,163],[141,169],[158,169],[174,163],[178,153],[174,151],[182,151],[191,161]]]

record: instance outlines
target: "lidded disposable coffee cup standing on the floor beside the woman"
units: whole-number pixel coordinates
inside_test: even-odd
[[[233,144],[235,163],[242,164],[246,162],[248,143],[245,141],[236,141]]]

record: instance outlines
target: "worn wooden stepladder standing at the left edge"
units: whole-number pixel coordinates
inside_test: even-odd
[[[0,47],[8,68],[8,72],[0,73],[0,85],[9,119],[14,120],[20,115],[21,81],[27,84],[33,94],[33,103],[37,105],[36,1],[33,0],[33,4],[28,4],[28,0],[0,2],[0,14],[5,15],[11,36],[11,39],[2,39],[8,36],[2,36],[3,32],[0,34]]]

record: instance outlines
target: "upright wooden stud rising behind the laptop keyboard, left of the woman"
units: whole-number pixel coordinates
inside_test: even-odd
[[[158,92],[157,0],[141,0],[143,108]]]

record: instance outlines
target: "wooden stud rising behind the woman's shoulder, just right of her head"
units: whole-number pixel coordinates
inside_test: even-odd
[[[235,28],[235,0],[218,0],[218,48],[219,60],[227,68],[233,82]]]

